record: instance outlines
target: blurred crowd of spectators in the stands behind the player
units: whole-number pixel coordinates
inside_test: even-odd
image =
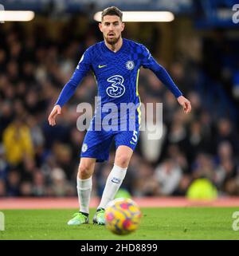
[[[11,24],[0,31],[0,196],[76,195],[85,134],[76,128],[76,106],[93,103],[97,89],[92,75],[64,106],[55,127],[47,118],[84,49],[102,40],[94,30],[92,26],[81,36],[66,24],[61,34],[50,37],[45,26],[27,33]],[[229,49],[218,47],[218,37],[210,40],[199,63],[184,53],[166,66],[191,101],[189,115],[151,71],[141,69],[141,100],[163,102],[163,136],[148,140],[147,132],[140,133],[122,185],[131,195],[186,195],[194,180],[202,178],[218,195],[239,195],[238,120],[233,114],[238,109],[239,66],[229,58]],[[92,196],[102,194],[114,152],[112,146],[108,163],[96,164]]]

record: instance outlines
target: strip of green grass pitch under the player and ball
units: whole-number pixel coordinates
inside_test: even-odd
[[[170,239],[239,239],[232,228],[236,207],[165,207],[142,208],[139,229],[132,234],[116,235],[104,226],[92,224],[96,209],[90,211],[90,223],[68,226],[76,209],[3,210],[5,230],[0,240],[170,240]]]

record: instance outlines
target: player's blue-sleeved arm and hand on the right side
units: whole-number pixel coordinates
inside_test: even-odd
[[[167,86],[167,89],[174,94],[185,113],[189,113],[191,111],[190,100],[187,100],[185,96],[182,96],[182,92],[178,89],[178,86],[174,84],[174,81],[170,77],[169,73],[167,73],[167,70],[155,61],[155,58],[151,56],[151,53],[145,46],[143,46],[142,65],[143,68],[151,69],[151,71],[155,73],[156,77],[158,77],[159,80]]]

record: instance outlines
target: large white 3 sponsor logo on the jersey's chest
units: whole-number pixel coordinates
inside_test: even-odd
[[[106,89],[106,93],[108,94],[108,96],[118,98],[119,96],[123,95],[123,93],[125,92],[125,87],[123,85],[123,77],[115,75],[109,77],[107,81],[112,83],[112,85]]]

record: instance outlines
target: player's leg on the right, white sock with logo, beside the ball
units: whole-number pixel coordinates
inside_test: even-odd
[[[116,150],[115,164],[108,175],[100,205],[97,208],[93,223],[104,225],[104,209],[107,204],[115,198],[119,187],[126,175],[128,164],[130,163],[133,150],[125,145],[121,145]]]

